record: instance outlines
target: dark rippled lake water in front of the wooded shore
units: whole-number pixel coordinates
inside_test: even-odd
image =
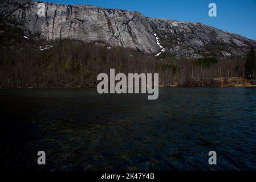
[[[0,90],[1,165],[32,170],[256,169],[256,89]],[[38,166],[37,152],[46,152]],[[208,163],[217,152],[217,166]]]

